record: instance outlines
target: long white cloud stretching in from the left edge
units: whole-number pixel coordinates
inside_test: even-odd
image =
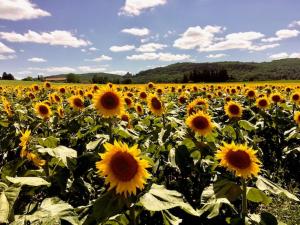
[[[79,39],[69,31],[54,30],[51,32],[38,33],[28,30],[25,34],[18,34],[15,32],[0,32],[0,38],[9,42],[32,42],[49,45],[63,45],[78,48],[87,46],[91,43],[89,41]]]

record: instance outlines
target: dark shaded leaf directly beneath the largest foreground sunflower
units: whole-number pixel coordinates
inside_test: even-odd
[[[115,216],[123,211],[124,199],[112,192],[107,192],[96,200],[92,213],[84,221],[83,225],[93,225],[103,222],[109,217]]]

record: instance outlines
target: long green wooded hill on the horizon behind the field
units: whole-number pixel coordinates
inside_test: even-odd
[[[108,73],[75,74],[81,82],[90,83],[92,78],[103,77],[111,82],[147,83],[153,82],[182,82],[184,76],[189,78],[192,74],[210,73],[214,76],[217,72],[226,71],[231,81],[249,80],[300,80],[300,59],[281,59],[272,62],[214,62],[214,63],[175,63],[165,67],[140,71],[134,76],[120,76]],[[195,75],[196,74],[196,75]],[[50,77],[66,77],[60,74]],[[200,78],[201,82],[201,78]]]

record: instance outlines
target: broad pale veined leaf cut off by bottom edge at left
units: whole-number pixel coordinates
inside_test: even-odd
[[[30,224],[61,224],[61,221],[67,221],[72,225],[80,225],[78,215],[74,208],[61,199],[46,198],[42,202],[40,208],[32,215],[19,215],[11,225],[25,224],[25,221]]]

